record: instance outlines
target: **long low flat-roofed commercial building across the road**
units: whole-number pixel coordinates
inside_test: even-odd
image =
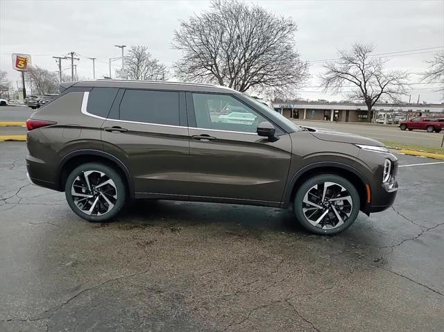
[[[289,119],[366,122],[367,106],[359,103],[328,103],[320,101],[288,101],[273,103],[275,111]],[[444,104],[389,104],[373,107],[372,117],[378,116],[408,118],[410,116],[444,116]]]

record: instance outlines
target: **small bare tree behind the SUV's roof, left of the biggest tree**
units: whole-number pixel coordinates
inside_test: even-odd
[[[131,46],[117,76],[129,80],[166,80],[167,67],[153,58],[146,46]]]

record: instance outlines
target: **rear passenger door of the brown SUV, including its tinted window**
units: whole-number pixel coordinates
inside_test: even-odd
[[[188,198],[185,92],[120,89],[102,141],[106,152],[126,161],[136,197]]]

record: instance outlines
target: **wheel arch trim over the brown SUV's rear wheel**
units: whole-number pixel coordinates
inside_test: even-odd
[[[126,165],[117,157],[114,157],[107,152],[93,149],[76,150],[68,153],[62,158],[57,168],[58,186],[60,191],[64,191],[65,182],[69,173],[71,173],[71,171],[77,166],[87,162],[101,162],[108,166],[112,166],[121,175],[129,197],[131,199],[135,197],[133,177],[131,177],[128,167],[126,167]]]

